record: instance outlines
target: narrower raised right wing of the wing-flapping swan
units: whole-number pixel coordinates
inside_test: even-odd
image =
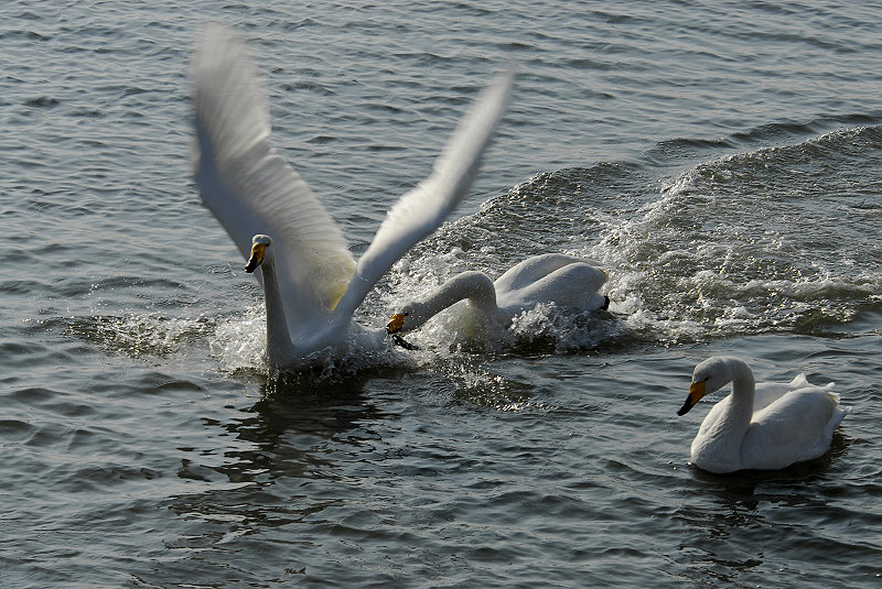
[[[481,92],[435,160],[431,175],[386,214],[334,309],[335,318],[351,316],[380,276],[413,244],[438,229],[467,194],[505,112],[513,79],[512,72],[501,74]]]

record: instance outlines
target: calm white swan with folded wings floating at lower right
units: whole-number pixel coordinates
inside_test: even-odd
[[[742,360],[713,357],[696,367],[677,415],[728,382],[732,393],[710,410],[690,449],[691,462],[710,472],[776,470],[818,458],[850,411],[839,405],[833,383],[816,386],[799,374],[788,383],[754,384]]]

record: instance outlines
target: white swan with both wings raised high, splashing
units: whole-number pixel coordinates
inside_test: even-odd
[[[346,240],[306,183],[269,143],[266,91],[228,28],[207,28],[193,56],[197,150],[203,203],[229,233],[263,285],[267,361],[298,368],[316,352],[352,342],[387,346],[384,329],[353,321],[377,280],[434,231],[471,187],[502,119],[513,74],[495,78],[454,131],[431,175],[386,214],[356,263]],[[271,236],[271,238],[269,237]]]

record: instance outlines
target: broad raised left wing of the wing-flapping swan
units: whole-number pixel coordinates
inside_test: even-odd
[[[290,326],[326,317],[355,261],[310,187],[269,144],[267,94],[245,43],[213,24],[200,35],[192,68],[203,203],[246,259],[256,233],[272,237]]]

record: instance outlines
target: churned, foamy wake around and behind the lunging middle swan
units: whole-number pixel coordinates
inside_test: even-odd
[[[400,303],[463,270],[496,276],[526,255],[560,251],[610,271],[616,327],[579,329],[534,309],[503,346],[548,350],[551,336],[560,353],[824,329],[882,307],[876,164],[882,128],[862,127],[717,156],[667,179],[632,164],[538,174],[444,225],[394,269],[389,288],[406,293]],[[422,331],[422,345],[438,346],[455,326],[439,318]]]

